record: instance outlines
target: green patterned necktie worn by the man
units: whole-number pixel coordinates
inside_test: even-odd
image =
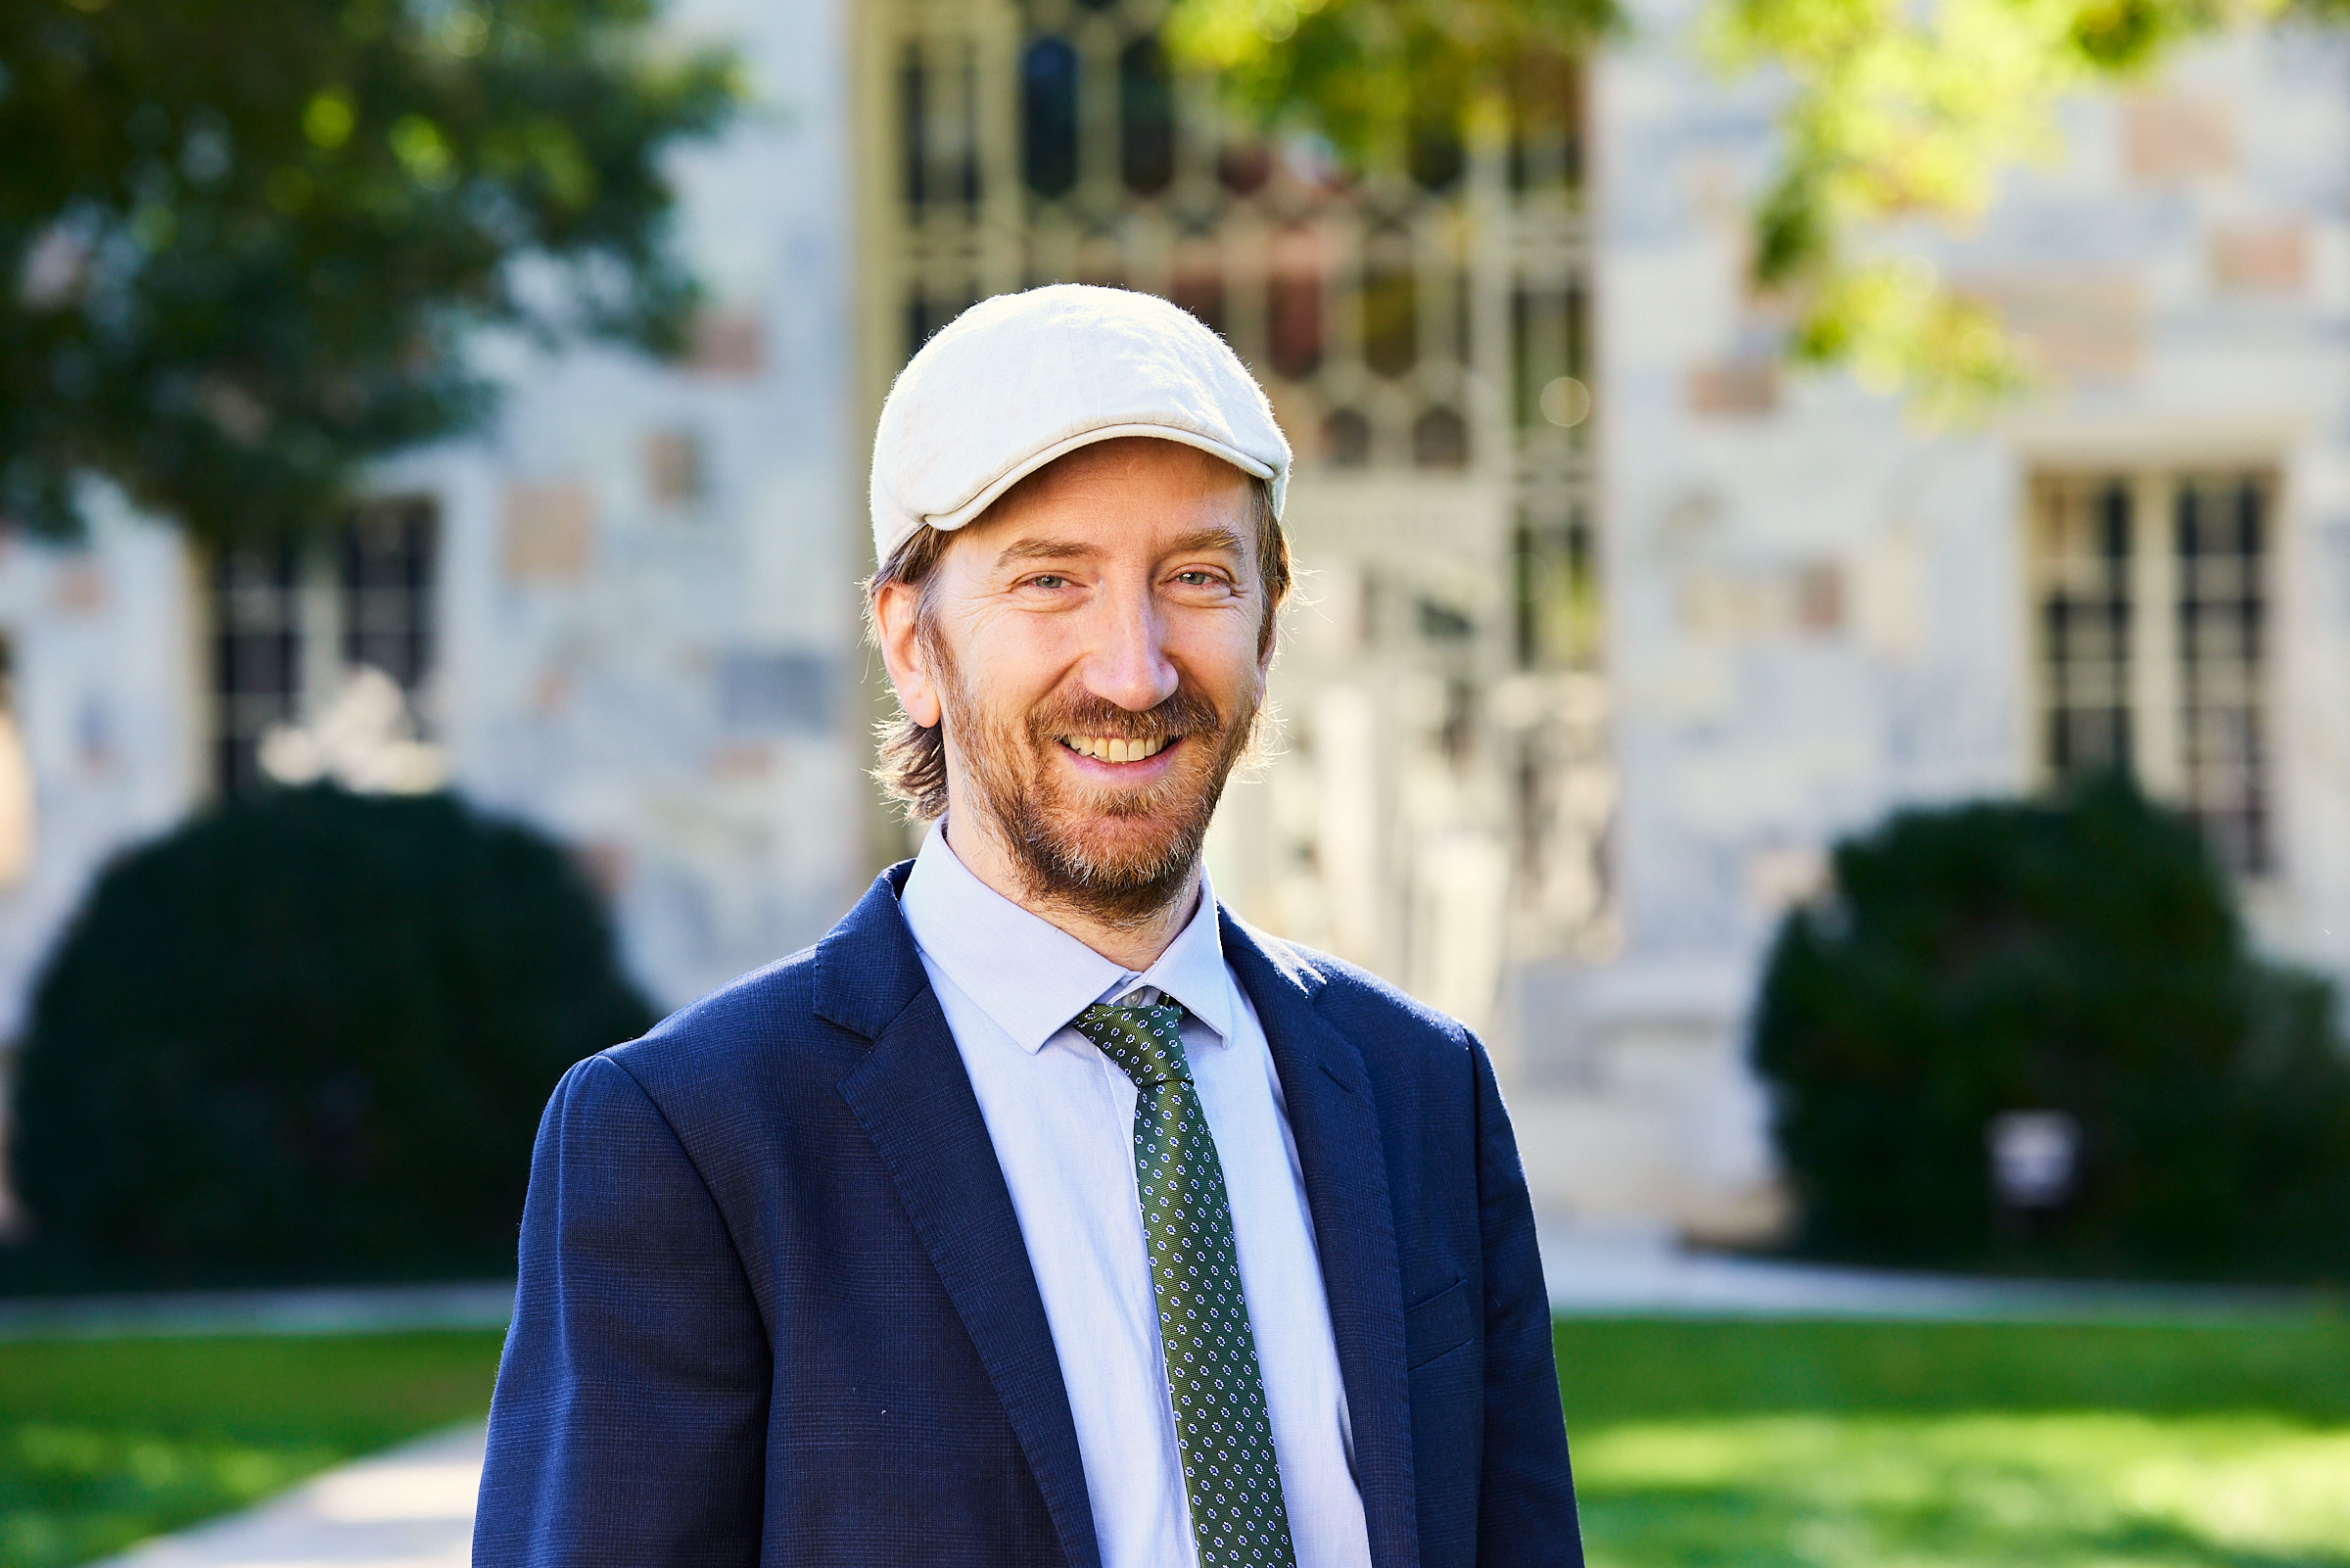
[[[1135,1185],[1201,1568],[1290,1568],[1274,1425],[1241,1298],[1231,1201],[1182,1053],[1182,1006],[1088,1006],[1076,1032],[1140,1088]]]

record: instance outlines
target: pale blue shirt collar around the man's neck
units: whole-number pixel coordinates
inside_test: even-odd
[[[945,820],[933,823],[924,837],[898,907],[924,957],[1022,1051],[1034,1056],[1086,1006],[1137,985],[1159,987],[1220,1039],[1231,1039],[1231,971],[1206,877],[1198,910],[1137,976],[973,877],[945,827]]]

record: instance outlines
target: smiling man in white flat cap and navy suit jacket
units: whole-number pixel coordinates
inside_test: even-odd
[[[1288,463],[1140,294],[907,364],[870,609],[940,820],[555,1091],[475,1563],[1582,1561],[1485,1051],[1201,872]]]

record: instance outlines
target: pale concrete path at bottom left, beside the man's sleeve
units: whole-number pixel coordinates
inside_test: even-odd
[[[479,1479],[482,1427],[468,1425],[331,1469],[103,1568],[468,1568]]]

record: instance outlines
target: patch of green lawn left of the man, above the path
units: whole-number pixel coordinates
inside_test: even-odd
[[[66,1568],[489,1408],[491,1333],[0,1345],[0,1568]]]

